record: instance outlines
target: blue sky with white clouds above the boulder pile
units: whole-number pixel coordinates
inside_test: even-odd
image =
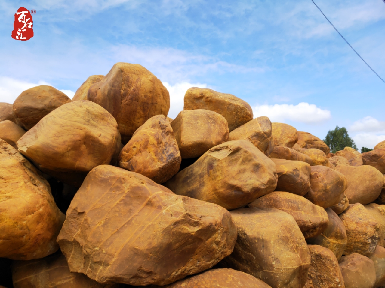
[[[385,3],[315,0],[385,79]],[[35,9],[34,36],[11,38],[19,7]],[[169,116],[192,86],[247,101],[323,139],[345,126],[357,146],[385,140],[385,83],[311,0],[0,0],[0,101],[49,84],[70,97],[114,63],[138,63],[170,92]]]

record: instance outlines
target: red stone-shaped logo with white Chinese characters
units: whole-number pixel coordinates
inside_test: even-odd
[[[20,7],[15,14],[12,38],[16,40],[30,40],[33,37],[32,15],[24,7]]]

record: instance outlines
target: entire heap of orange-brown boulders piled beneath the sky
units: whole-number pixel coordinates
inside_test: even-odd
[[[0,103],[0,287],[384,287],[383,142],[331,154],[211,89],[169,105],[129,63]]]

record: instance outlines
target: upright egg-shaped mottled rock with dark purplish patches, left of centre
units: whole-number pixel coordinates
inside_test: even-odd
[[[137,172],[157,183],[179,171],[181,153],[170,122],[156,115],[139,127],[119,154],[119,167]]]

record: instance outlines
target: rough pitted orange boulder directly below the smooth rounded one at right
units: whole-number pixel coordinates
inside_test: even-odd
[[[376,249],[379,237],[380,225],[377,220],[360,204],[349,204],[339,215],[346,228],[348,243],[343,255],[360,253],[369,257]]]

